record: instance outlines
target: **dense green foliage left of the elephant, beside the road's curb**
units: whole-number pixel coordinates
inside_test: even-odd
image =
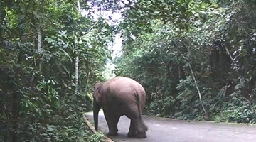
[[[0,141],[104,141],[82,113],[110,58],[112,26],[81,16],[77,1],[1,1],[0,9]]]

